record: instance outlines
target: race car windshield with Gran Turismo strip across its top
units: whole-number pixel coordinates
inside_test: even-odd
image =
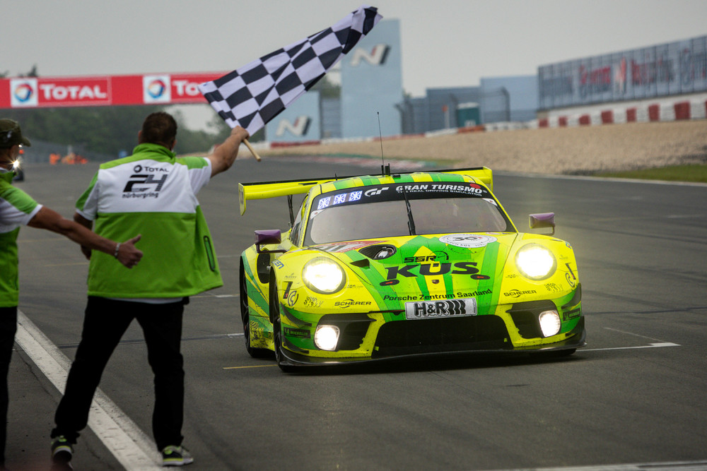
[[[508,230],[513,226],[496,200],[477,184],[378,185],[317,196],[305,244]]]

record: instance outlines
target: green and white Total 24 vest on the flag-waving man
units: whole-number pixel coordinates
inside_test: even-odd
[[[95,232],[107,239],[124,242],[142,234],[136,246],[144,256],[129,269],[112,255],[93,251],[89,296],[185,297],[223,285],[209,227],[189,182],[189,172],[207,167],[203,157],[177,159],[156,144],[138,145],[133,155],[100,165],[76,210],[95,218]]]

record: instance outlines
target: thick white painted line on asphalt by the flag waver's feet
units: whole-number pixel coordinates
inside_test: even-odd
[[[15,341],[49,381],[64,393],[71,361],[18,309]],[[93,395],[88,427],[127,470],[161,470],[155,442],[115,403],[97,389]]]

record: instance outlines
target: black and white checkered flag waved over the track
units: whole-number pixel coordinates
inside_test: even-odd
[[[331,28],[201,83],[199,91],[228,126],[252,136],[312,88],[380,18],[377,8],[361,6]]]

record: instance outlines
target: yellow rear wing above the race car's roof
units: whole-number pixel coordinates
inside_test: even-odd
[[[393,174],[414,174],[419,172],[393,172]],[[469,167],[464,169],[431,170],[430,173],[461,174],[472,177],[486,185],[493,191],[493,175],[491,169],[487,167]],[[282,181],[259,181],[255,183],[238,184],[238,199],[240,202],[240,214],[245,214],[245,202],[247,200],[259,200],[264,198],[276,198],[277,196],[291,196],[300,193],[307,193],[312,186],[328,183],[329,181],[342,180],[347,178],[368,177],[373,175],[349,175],[348,177],[330,177],[324,179],[301,179]],[[389,177],[390,175],[385,175]]]

